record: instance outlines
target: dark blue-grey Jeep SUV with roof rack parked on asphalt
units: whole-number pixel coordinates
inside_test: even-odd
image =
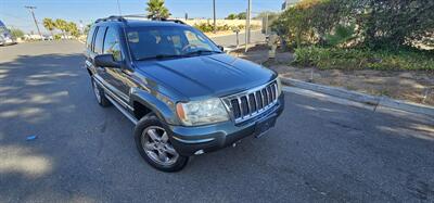
[[[113,104],[136,125],[140,154],[164,172],[260,137],[283,111],[275,72],[225,54],[177,20],[98,20],[86,48],[98,103]]]

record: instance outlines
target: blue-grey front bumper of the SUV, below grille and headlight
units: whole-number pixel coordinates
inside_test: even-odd
[[[205,153],[216,151],[252,136],[258,120],[278,117],[283,109],[284,94],[282,93],[273,107],[240,125],[229,120],[199,127],[168,126],[170,141],[177,152],[184,156],[193,155],[200,150]]]

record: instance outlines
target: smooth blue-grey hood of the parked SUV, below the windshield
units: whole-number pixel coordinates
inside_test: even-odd
[[[139,69],[187,98],[222,97],[272,80],[276,74],[227,54],[138,62]]]

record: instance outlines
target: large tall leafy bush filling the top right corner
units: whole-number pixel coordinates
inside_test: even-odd
[[[433,11],[432,0],[302,0],[272,27],[298,48],[353,41],[354,47],[397,50],[416,41],[434,46]],[[334,35],[349,24],[354,24],[354,30],[347,30],[354,31],[352,37]]]

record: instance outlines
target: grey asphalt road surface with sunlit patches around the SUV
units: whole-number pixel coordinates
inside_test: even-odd
[[[434,202],[434,118],[291,93],[267,136],[157,172],[82,47],[0,47],[0,202]]]

